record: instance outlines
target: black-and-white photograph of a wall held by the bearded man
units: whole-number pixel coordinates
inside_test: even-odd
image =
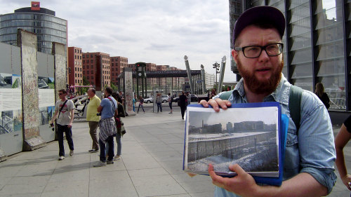
[[[213,109],[187,108],[184,170],[234,175],[239,164],[251,175],[279,176],[278,107]]]

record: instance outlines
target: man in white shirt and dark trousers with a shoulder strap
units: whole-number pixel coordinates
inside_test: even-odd
[[[69,156],[73,156],[74,144],[72,139],[72,123],[74,119],[74,104],[72,100],[67,100],[67,91],[65,89],[58,90],[58,97],[60,100],[55,103],[55,114],[51,118],[50,125],[53,125],[56,116],[57,135],[58,135],[58,160],[65,159],[65,148],[63,145],[63,133],[65,132],[66,140],[69,147]]]

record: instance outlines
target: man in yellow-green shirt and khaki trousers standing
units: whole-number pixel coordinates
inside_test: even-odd
[[[88,109],[86,110],[86,121],[89,124],[89,133],[91,135],[91,140],[93,140],[93,145],[89,150],[90,153],[95,153],[99,151],[99,141],[98,141],[98,125],[100,121],[100,116],[98,116],[98,107],[100,106],[100,98],[95,95],[95,88],[89,88],[88,91],[89,103]]]

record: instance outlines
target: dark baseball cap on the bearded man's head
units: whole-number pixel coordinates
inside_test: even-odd
[[[272,24],[273,27],[278,30],[279,35],[283,37],[285,32],[285,18],[283,13],[277,8],[271,6],[256,6],[244,11],[244,13],[242,13],[237,19],[237,22],[235,22],[233,31],[233,46],[235,39],[237,39],[245,27],[261,22],[268,22]]]

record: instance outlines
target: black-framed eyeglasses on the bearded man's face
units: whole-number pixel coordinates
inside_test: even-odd
[[[268,56],[277,56],[283,53],[283,43],[270,43],[266,46],[244,46],[235,47],[234,50],[241,50],[245,57],[260,57],[262,50],[265,50]]]

